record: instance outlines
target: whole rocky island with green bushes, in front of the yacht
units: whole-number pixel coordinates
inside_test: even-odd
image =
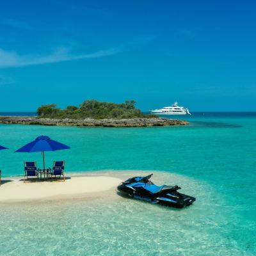
[[[152,127],[187,125],[184,120],[159,118],[135,108],[134,100],[122,104],[85,100],[79,108],[57,108],[56,104],[37,109],[38,116],[0,116],[0,124],[65,125],[81,127]]]

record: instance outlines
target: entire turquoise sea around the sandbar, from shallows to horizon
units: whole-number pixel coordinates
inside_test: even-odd
[[[47,165],[65,159],[68,172],[153,172],[153,180],[180,184],[197,198],[182,210],[114,193],[106,200],[4,205],[0,255],[255,255],[256,115],[189,121],[131,129],[0,125],[0,144],[10,148],[0,152],[6,177],[22,175],[25,160],[42,166],[39,153],[12,152],[47,134],[71,147],[47,152]]]

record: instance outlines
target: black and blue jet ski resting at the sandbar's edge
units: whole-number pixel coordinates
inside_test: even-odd
[[[183,208],[195,202],[193,196],[179,193],[179,186],[157,186],[150,178],[153,174],[145,177],[133,177],[122,182],[118,187],[118,191],[124,195],[130,196],[138,200],[150,202],[152,204],[160,204]]]

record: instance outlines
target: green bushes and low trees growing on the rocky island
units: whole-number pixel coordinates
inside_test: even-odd
[[[42,105],[37,109],[40,118],[152,118],[156,115],[148,115],[135,107],[135,100],[125,100],[124,103],[100,102],[97,100],[84,100],[79,106],[67,106],[58,108],[56,104]]]

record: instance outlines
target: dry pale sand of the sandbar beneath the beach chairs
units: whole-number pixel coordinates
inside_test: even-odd
[[[70,177],[65,182],[54,180],[44,182],[23,182],[21,179],[2,180],[0,202],[20,202],[29,200],[58,200],[81,198],[103,191],[115,191],[122,180],[107,177]]]

